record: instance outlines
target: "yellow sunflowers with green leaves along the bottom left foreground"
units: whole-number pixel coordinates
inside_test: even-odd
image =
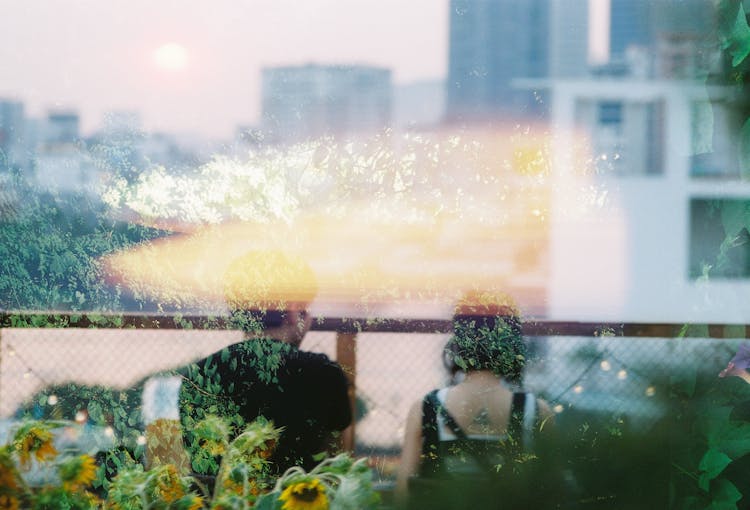
[[[94,458],[56,450],[53,429],[61,426],[22,422],[0,447],[0,509],[336,510],[373,508],[379,501],[367,459],[340,454],[310,472],[293,467],[275,476],[268,459],[282,429],[259,418],[229,441],[230,425],[216,416],[195,430],[201,447],[221,456],[215,478],[193,476],[161,461],[148,469],[133,462],[121,467],[100,497],[92,489]]]

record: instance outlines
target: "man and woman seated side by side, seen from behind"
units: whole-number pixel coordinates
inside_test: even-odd
[[[182,427],[189,439],[195,421],[215,406],[226,407],[245,421],[261,414],[285,427],[273,459],[277,466],[283,470],[302,464],[309,469],[327,434],[343,430],[351,421],[347,383],[340,367],[325,356],[296,348],[310,325],[305,306],[314,297],[314,284],[302,289],[308,295],[287,300],[285,306],[279,296],[264,296],[262,306],[247,299],[257,296],[259,278],[269,279],[269,274],[273,286],[294,281],[296,292],[299,281],[314,282],[304,265],[290,265],[286,258],[271,262],[255,254],[230,267],[226,294],[234,319],[246,332],[262,333],[250,334],[255,341],[234,344],[179,371]],[[273,274],[290,267],[293,278]],[[425,508],[461,508],[468,501],[486,506],[500,487],[509,497],[510,481],[531,472],[535,432],[551,426],[546,402],[511,387],[520,382],[526,358],[519,316],[507,298],[486,292],[467,294],[456,308],[453,326],[446,352],[465,377],[412,407],[397,481],[401,501],[407,491],[421,492]],[[200,387],[196,381],[201,381]],[[467,477],[476,480],[479,472],[498,470],[504,484],[498,485],[494,478],[485,486],[472,483],[469,499],[442,482],[446,477],[458,483]],[[446,491],[435,491],[431,480],[441,480],[439,484],[452,496],[445,498]],[[441,500],[425,498],[426,493]],[[455,496],[461,501],[451,499]]]

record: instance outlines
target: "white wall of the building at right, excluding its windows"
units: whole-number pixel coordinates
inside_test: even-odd
[[[554,88],[549,316],[560,320],[748,323],[750,280],[688,274],[693,196],[750,199],[750,184],[691,179],[690,105],[705,94],[668,82],[562,82]],[[590,171],[574,129],[577,97],[666,102],[664,173]],[[576,148],[584,155],[576,155]],[[588,169],[588,170],[586,170]]]

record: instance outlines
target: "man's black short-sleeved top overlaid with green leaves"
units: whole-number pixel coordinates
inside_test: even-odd
[[[180,418],[185,442],[195,453],[192,425],[206,414],[229,418],[236,432],[258,416],[284,427],[271,457],[283,472],[315,466],[333,431],[352,420],[348,382],[324,354],[300,351],[270,339],[233,344],[179,371]],[[192,448],[191,448],[192,446]]]

